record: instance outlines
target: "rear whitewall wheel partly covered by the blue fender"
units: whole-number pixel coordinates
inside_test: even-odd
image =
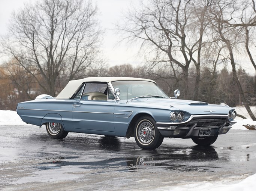
[[[63,139],[69,133],[68,131],[64,131],[63,126],[60,123],[49,122],[46,123],[45,126],[48,135],[54,139]]]

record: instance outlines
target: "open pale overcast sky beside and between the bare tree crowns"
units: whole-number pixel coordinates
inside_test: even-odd
[[[21,8],[24,2],[33,0],[0,0],[0,34],[7,31],[10,14],[13,10]],[[99,20],[104,33],[102,50],[108,60],[109,66],[130,63],[139,65],[143,58],[138,56],[138,47],[131,47],[125,43],[117,46],[117,34],[113,30],[115,24],[122,20],[122,13],[126,12],[131,3],[136,4],[138,0],[92,0],[99,8]],[[3,60],[0,60],[0,63]]]

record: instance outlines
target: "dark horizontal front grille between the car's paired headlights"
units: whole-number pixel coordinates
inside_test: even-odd
[[[196,127],[218,127],[226,123],[225,126],[229,126],[230,123],[227,122],[226,118],[216,118],[216,119],[193,119],[189,123],[185,123],[177,126],[177,128],[187,128],[195,124]]]

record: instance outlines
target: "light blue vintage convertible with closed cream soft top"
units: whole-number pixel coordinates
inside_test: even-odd
[[[144,149],[159,147],[164,137],[211,145],[236,123],[233,108],[176,99],[179,94],[169,97],[150,79],[92,77],[70,81],[55,98],[18,103],[16,110],[26,123],[45,124],[55,139],[68,132],[134,137]]]

